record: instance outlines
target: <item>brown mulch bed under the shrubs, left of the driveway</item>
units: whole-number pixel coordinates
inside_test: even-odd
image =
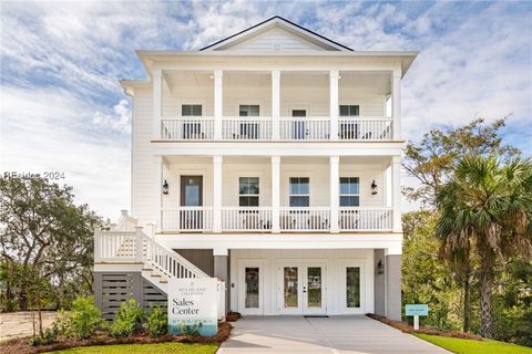
[[[137,332],[134,336],[126,339],[113,339],[103,332],[96,333],[95,336],[85,341],[61,341],[48,345],[31,346],[28,344],[29,337],[16,339],[0,344],[1,354],[37,354],[51,351],[68,350],[78,346],[91,345],[112,345],[112,344],[151,344],[151,343],[222,343],[227,340],[233,326],[227,322],[218,323],[218,333],[214,336],[176,336],[164,335],[158,337],[151,337],[145,332]]]

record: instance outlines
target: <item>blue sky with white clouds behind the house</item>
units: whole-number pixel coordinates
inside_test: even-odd
[[[355,50],[420,51],[403,81],[403,129],[509,115],[532,155],[532,2],[0,2],[0,171],[64,171],[80,202],[130,205],[135,49],[196,50],[282,15]],[[408,180],[407,180],[408,181]]]

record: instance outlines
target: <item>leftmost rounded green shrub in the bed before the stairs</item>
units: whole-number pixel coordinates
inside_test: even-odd
[[[92,296],[78,298],[72,310],[62,312],[57,323],[58,332],[74,340],[91,337],[103,325],[102,313],[94,305]]]

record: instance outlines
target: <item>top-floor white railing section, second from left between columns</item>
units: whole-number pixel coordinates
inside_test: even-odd
[[[270,117],[224,117],[222,121],[224,140],[270,140]]]

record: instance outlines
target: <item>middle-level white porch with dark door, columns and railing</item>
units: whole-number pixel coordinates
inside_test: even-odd
[[[162,233],[400,231],[399,157],[155,160]]]

